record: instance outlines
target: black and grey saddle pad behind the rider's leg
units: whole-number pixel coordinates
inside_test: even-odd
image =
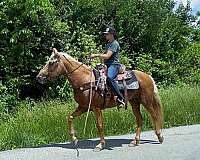
[[[127,89],[128,90],[138,89],[139,88],[139,83],[137,81],[137,78],[135,76],[134,71],[129,71],[129,74],[131,75],[131,78],[125,80]],[[118,83],[119,89],[120,90],[124,90],[123,81],[122,80],[118,80],[116,82]]]

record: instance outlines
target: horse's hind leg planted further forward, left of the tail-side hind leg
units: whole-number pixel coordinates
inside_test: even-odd
[[[139,102],[139,100],[132,99],[130,101],[130,104],[132,106],[132,110],[133,110],[133,113],[136,117],[136,123],[137,123],[135,139],[129,145],[131,147],[131,146],[137,146],[140,143],[140,134],[141,134],[141,131],[142,131],[143,118],[142,118],[142,114],[140,112],[140,102]]]

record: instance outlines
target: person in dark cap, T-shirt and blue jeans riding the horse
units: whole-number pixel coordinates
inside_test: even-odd
[[[125,105],[124,97],[118,88],[117,82],[115,81],[115,78],[120,69],[120,46],[117,40],[115,40],[116,30],[112,27],[108,27],[103,33],[106,37],[106,40],[108,41],[108,44],[106,45],[106,50],[104,54],[92,54],[91,58],[99,57],[104,60],[104,63],[108,68],[107,79],[109,86],[117,96],[116,100],[118,101],[118,103]]]

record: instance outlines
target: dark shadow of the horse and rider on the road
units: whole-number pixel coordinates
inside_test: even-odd
[[[122,147],[122,145],[128,145],[132,139],[106,139],[106,148],[112,150],[115,147]],[[77,147],[79,149],[94,149],[99,143],[99,140],[81,140],[78,142]],[[153,140],[141,140],[140,144],[160,144],[158,141]],[[62,147],[66,149],[74,149],[73,143],[60,143],[60,144],[49,144],[42,147]]]

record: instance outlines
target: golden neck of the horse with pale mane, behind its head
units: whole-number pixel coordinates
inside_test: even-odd
[[[67,75],[67,79],[73,87],[80,87],[81,85],[94,80],[92,69],[77,60],[72,59],[70,62],[65,60],[64,65],[68,72],[65,75]]]

